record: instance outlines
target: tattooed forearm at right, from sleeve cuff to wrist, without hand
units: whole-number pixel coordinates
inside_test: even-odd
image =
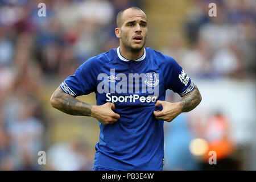
[[[181,112],[184,113],[195,109],[195,107],[200,104],[201,100],[201,94],[197,86],[195,86],[195,88],[191,92],[185,94],[179,102],[181,105]]]

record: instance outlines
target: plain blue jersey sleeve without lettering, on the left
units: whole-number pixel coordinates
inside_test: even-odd
[[[92,93],[97,88],[97,59],[90,58],[66,78],[60,88],[73,97]]]

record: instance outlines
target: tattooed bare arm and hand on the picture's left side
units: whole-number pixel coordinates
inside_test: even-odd
[[[112,109],[115,108],[113,103],[106,103],[101,106],[90,105],[85,102],[77,100],[75,97],[63,92],[58,87],[53,92],[51,97],[51,105],[64,113],[71,115],[92,116],[102,124],[107,125],[118,121],[119,114],[114,113]]]

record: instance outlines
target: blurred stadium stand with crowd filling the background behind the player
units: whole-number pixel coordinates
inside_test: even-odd
[[[46,17],[38,16],[41,2]],[[210,2],[217,17],[208,16]],[[164,169],[256,169],[255,1],[0,0],[0,170],[92,170],[98,122],[61,113],[49,98],[83,61],[118,47],[115,16],[130,6],[147,14],[146,46],[174,57],[203,96],[165,123]],[[96,104],[94,93],[78,99]],[[167,101],[179,99],[167,91]],[[192,146],[199,138],[208,147],[217,141],[225,160],[209,166],[195,153],[205,143]],[[47,165],[38,165],[39,150]]]

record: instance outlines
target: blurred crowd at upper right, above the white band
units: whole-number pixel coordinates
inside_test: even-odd
[[[255,2],[192,2],[182,25],[187,39],[182,39],[184,35],[180,34],[170,35],[170,44],[163,52],[181,65],[189,65],[185,69],[193,77],[248,78],[255,75]],[[217,5],[216,17],[208,14],[210,2]]]

